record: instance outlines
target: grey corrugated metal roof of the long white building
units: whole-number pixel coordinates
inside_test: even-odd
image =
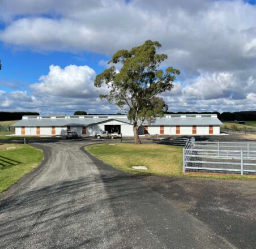
[[[12,126],[14,127],[47,127],[47,126],[88,126],[101,122],[108,122],[111,120],[120,121],[123,123],[131,124],[128,118],[42,118],[42,119],[22,119]],[[156,122],[152,124],[148,124],[144,122],[145,125],[148,126],[200,126],[200,125],[220,125],[222,124],[218,118],[156,118]]]

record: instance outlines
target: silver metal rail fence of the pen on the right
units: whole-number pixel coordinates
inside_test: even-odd
[[[195,141],[183,153],[184,172],[256,175],[255,142]]]

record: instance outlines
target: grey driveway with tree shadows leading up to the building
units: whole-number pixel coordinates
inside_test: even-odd
[[[236,248],[88,143],[35,144],[41,166],[0,196],[0,248]]]

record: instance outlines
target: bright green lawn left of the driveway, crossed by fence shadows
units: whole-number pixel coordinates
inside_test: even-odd
[[[7,150],[7,147],[15,148]],[[27,144],[0,145],[0,193],[35,169],[42,158],[40,149]]]

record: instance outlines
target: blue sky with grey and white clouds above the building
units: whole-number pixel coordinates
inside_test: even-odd
[[[169,111],[256,110],[255,0],[0,0],[0,110],[120,112],[93,80],[146,40],[181,71]]]

